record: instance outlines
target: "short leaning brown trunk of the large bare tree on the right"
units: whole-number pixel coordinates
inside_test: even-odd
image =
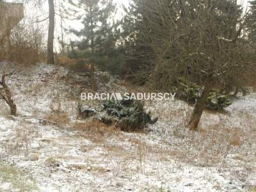
[[[205,87],[204,93],[202,94],[200,99],[198,99],[198,101],[196,102],[195,109],[194,109],[193,114],[189,120],[189,129],[190,130],[198,131],[198,124],[199,124],[200,118],[204,112],[205,102],[207,101],[207,97],[210,95],[210,93],[211,93],[211,88]]]

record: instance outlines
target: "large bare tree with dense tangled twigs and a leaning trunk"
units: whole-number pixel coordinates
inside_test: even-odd
[[[149,86],[169,91],[182,77],[204,88],[189,120],[193,131],[212,90],[255,77],[235,0],[132,0],[128,17],[136,26],[132,57]]]

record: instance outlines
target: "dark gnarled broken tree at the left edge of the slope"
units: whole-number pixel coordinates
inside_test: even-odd
[[[0,81],[0,99],[5,100],[6,104],[10,106],[11,109],[11,115],[16,116],[17,115],[17,107],[16,104],[14,103],[12,99],[12,92],[10,91],[10,88],[8,88],[6,82],[5,82],[5,77],[7,76],[12,76],[14,72],[10,74],[3,74],[2,79]]]

